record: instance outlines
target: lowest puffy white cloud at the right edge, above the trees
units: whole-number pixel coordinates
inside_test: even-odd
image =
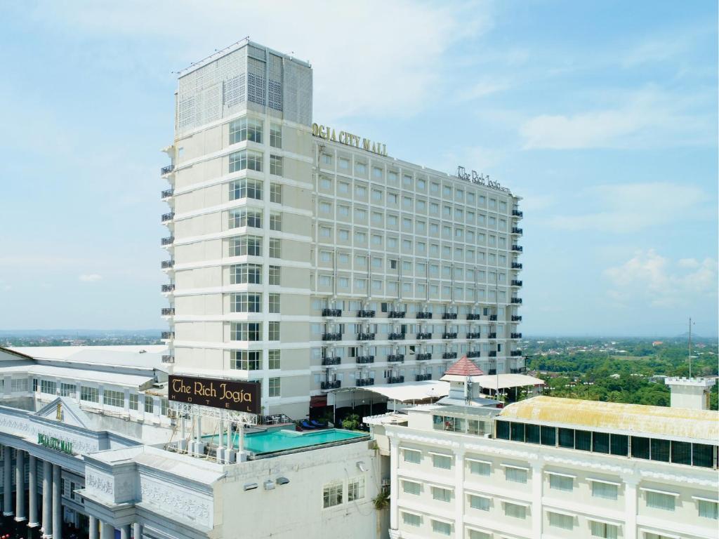
[[[686,259],[683,259],[686,260]],[[697,303],[716,304],[717,261],[705,258],[687,267],[657,254],[654,249],[639,251],[618,267],[605,270],[613,288],[608,295],[620,304],[642,300],[657,308],[691,307]]]

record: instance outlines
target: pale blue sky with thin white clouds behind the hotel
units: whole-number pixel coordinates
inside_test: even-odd
[[[314,118],[523,197],[523,332],[715,336],[717,4],[0,5],[0,328],[159,328],[173,71],[249,34]]]

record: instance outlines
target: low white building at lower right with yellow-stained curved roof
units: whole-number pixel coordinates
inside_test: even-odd
[[[719,413],[533,397],[365,418],[390,537],[716,539]]]

